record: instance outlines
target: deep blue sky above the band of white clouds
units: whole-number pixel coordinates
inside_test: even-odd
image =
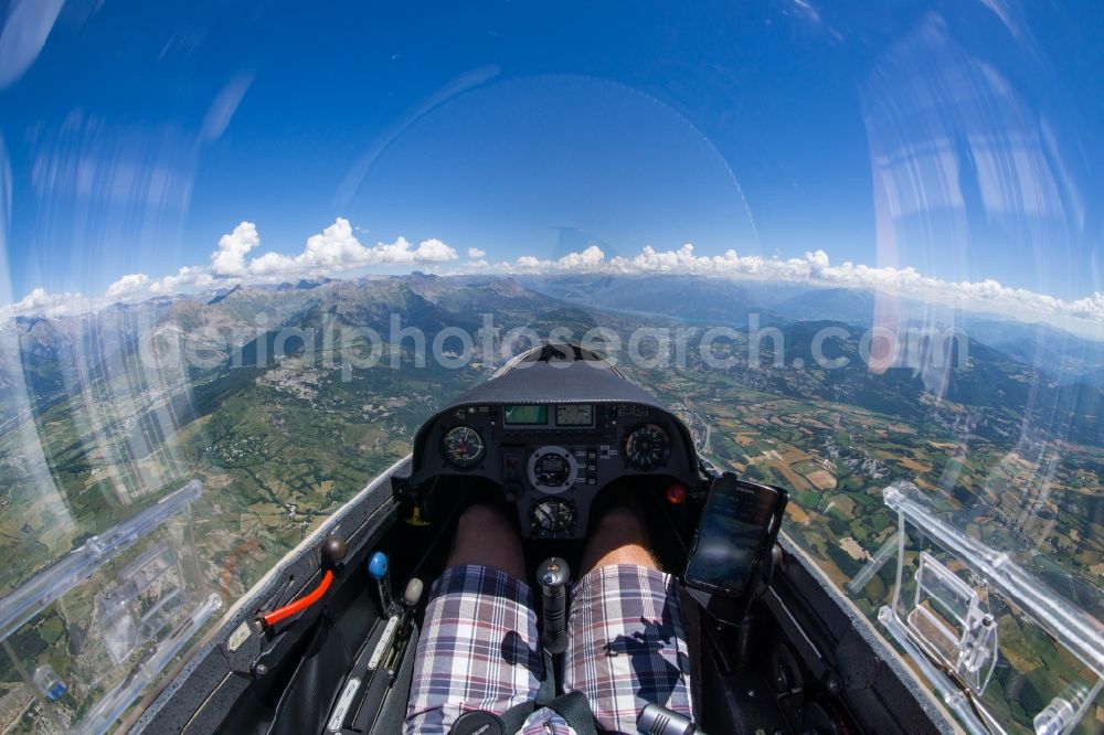
[[[0,40],[4,301],[338,217],[456,267],[693,243],[1104,290],[1100,3],[79,0],[20,72],[12,19],[55,1]]]

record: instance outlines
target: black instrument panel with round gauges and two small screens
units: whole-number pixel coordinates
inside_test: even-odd
[[[414,479],[490,479],[517,505],[527,537],[578,539],[595,496],[616,479],[664,473],[693,482],[693,449],[678,422],[638,403],[455,406],[427,433]]]

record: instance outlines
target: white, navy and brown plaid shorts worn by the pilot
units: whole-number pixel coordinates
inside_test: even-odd
[[[648,702],[690,716],[690,659],[673,578],[603,566],[572,592],[563,688],[586,695],[598,725],[635,733]],[[446,569],[433,585],[414,661],[407,733],[447,733],[468,710],[501,714],[537,699],[542,658],[533,593],[505,572]],[[567,735],[542,709],[521,731]]]

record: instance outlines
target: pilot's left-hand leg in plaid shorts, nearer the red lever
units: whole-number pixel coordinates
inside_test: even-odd
[[[447,733],[468,710],[531,702],[542,661],[521,541],[498,508],[460,516],[448,568],[433,584],[417,642],[407,733]]]

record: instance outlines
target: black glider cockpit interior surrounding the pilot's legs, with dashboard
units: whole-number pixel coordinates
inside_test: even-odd
[[[413,455],[273,569],[176,678],[189,685],[162,692],[139,725],[401,732],[426,597],[465,508],[508,508],[535,573],[549,557],[577,569],[594,520],[630,498],[659,565],[681,577],[724,481],[683,422],[598,354],[537,348],[426,420]],[[860,614],[775,533],[744,594],[682,594],[700,732],[935,728],[907,678],[884,675],[900,663]]]

